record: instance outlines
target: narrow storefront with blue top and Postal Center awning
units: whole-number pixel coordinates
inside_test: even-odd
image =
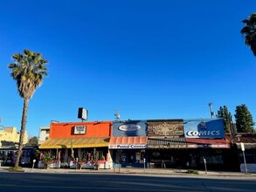
[[[142,168],[147,161],[147,139],[145,120],[114,121],[108,146],[114,167]]]

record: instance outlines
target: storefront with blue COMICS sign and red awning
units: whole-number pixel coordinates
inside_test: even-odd
[[[184,120],[188,148],[187,166],[211,169],[229,168],[230,142],[225,140],[223,119]]]

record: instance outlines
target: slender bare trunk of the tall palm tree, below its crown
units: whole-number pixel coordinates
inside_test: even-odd
[[[17,150],[17,159],[15,162],[15,167],[18,167],[19,159],[22,154],[28,108],[29,108],[29,99],[24,99],[23,113],[22,113],[21,127],[20,127],[20,134],[19,134],[19,142],[18,142],[18,150]]]

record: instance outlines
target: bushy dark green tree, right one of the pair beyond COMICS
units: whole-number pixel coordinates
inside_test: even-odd
[[[236,126],[239,133],[254,133],[255,130],[253,126],[253,116],[249,112],[247,106],[242,104],[241,106],[236,106]]]

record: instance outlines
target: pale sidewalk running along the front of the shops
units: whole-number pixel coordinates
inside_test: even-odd
[[[0,172],[8,172],[9,167],[0,167]],[[112,169],[70,169],[70,168],[24,168],[25,173],[97,173],[97,174],[131,174],[131,175],[195,175],[188,174],[188,169],[172,169],[172,168],[112,168]],[[205,171],[199,170],[198,175],[204,176],[235,176],[235,177],[255,177],[256,174],[246,174],[240,172],[224,172],[224,171]]]

